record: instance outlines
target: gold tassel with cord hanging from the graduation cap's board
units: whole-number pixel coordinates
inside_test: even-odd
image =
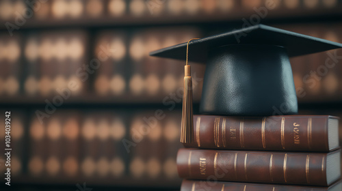
[[[193,38],[191,40],[198,39]],[[187,42],[187,57],[189,50],[189,40]],[[183,93],[183,108],[182,108],[182,124],[181,124],[181,143],[194,143],[194,113],[192,109],[192,76],[191,67],[185,63],[184,76],[184,93]]]

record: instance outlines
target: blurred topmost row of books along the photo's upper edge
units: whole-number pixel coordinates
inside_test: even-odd
[[[25,20],[22,27],[187,23],[258,18],[340,16],[339,0],[3,0],[0,20]],[[253,23],[252,23],[253,24]],[[4,28],[9,25],[2,26]]]

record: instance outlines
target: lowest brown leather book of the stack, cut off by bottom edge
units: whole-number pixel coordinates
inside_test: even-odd
[[[337,181],[329,187],[289,186],[265,183],[238,183],[220,181],[183,180],[181,191],[341,191],[342,181]]]

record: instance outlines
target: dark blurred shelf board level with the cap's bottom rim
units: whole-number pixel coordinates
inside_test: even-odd
[[[153,98],[148,96],[134,96],[134,95],[122,95],[122,96],[96,96],[96,95],[85,95],[85,96],[77,96],[70,97],[68,100],[64,100],[62,106],[60,107],[68,107],[68,106],[95,106],[95,107],[106,107],[106,106],[118,106],[118,107],[161,107],[169,108],[170,104],[163,104],[163,99],[166,98],[166,95],[158,95]],[[26,97],[26,96],[15,96],[11,98],[2,98],[0,100],[0,106],[8,106],[8,107],[16,107],[16,106],[45,106],[47,105],[48,100],[52,102],[53,97],[49,98],[40,98],[40,97]],[[176,102],[176,100],[168,99],[168,102],[173,101],[176,106],[181,106],[182,102]],[[194,105],[199,106],[200,98],[196,98],[194,100]],[[304,106],[304,108],[308,106],[317,106],[318,108],[327,108],[327,107],[336,107],[342,105],[342,100],[340,98],[308,98],[308,99],[299,99],[298,104],[300,106]],[[59,106],[57,106],[59,107]]]

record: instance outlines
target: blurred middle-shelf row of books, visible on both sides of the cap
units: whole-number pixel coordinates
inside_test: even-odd
[[[341,42],[338,23],[279,27]],[[198,37],[202,33],[200,31],[191,27],[154,27],[131,34],[122,30],[99,31],[94,37],[85,31],[41,31],[39,35],[27,35],[25,38],[20,34],[13,38],[1,35],[0,49],[6,51],[0,51],[0,96],[8,99],[13,95],[49,98],[56,95],[56,89],[65,89],[68,84],[76,83],[77,88],[71,93],[74,98],[81,98],[86,93],[94,98],[127,95],[137,98],[144,95],[150,100],[162,100],[183,87],[184,63],[148,57],[148,53]],[[94,47],[88,48],[93,38]],[[20,40],[23,44],[19,43]],[[67,51],[70,48],[73,54]],[[24,53],[21,53],[22,49]],[[94,59],[87,56],[88,49],[94,53]],[[339,77],[341,54],[341,50],[334,50],[291,59],[300,101],[339,99],[342,92]],[[192,71],[196,72],[194,76],[198,79],[194,100],[198,101],[205,65],[193,65]]]

